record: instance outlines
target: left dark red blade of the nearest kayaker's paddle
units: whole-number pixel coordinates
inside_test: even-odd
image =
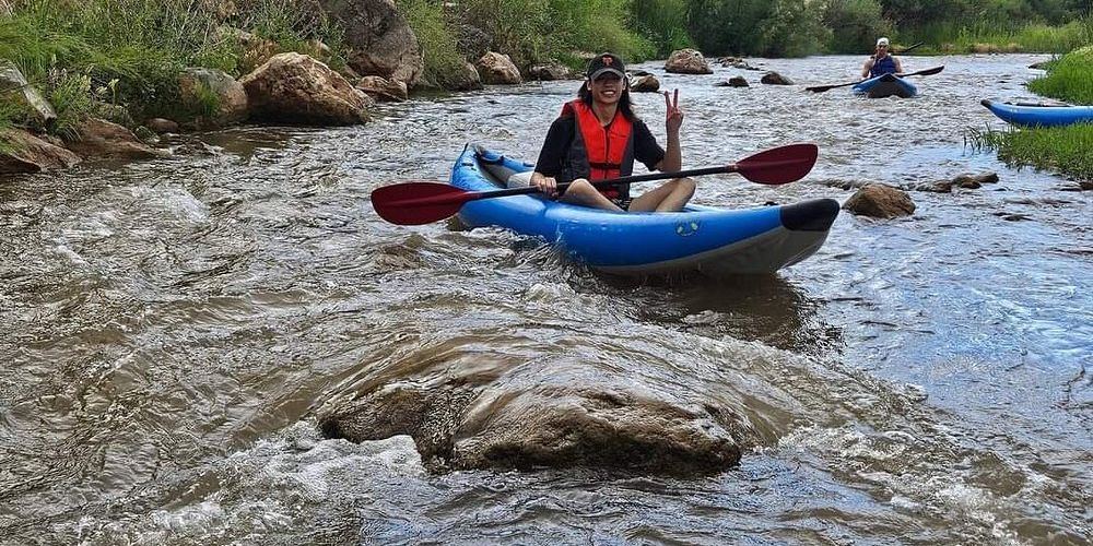
[[[373,190],[372,207],[391,224],[419,226],[451,216],[475,194],[443,182],[396,183]]]

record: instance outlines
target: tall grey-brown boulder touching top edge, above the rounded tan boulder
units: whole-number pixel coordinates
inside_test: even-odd
[[[425,68],[418,36],[395,0],[316,0],[345,31],[346,62],[361,75],[398,80],[413,87]]]

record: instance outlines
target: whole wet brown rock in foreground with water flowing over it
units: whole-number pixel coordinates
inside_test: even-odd
[[[585,466],[700,475],[740,461],[745,419],[698,389],[670,393],[623,375],[590,379],[584,366],[563,363],[501,376],[449,369],[380,381],[320,408],[319,426],[328,437],[357,442],[409,435],[434,470]]]

